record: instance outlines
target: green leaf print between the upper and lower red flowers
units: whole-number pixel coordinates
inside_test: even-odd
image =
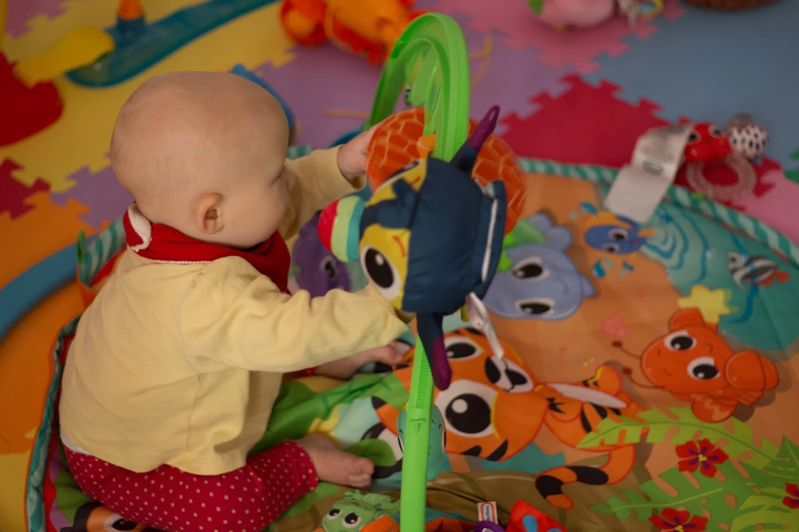
[[[646,521],[653,510],[660,512],[664,508],[685,506],[694,515],[702,515],[703,509],[708,510],[711,522],[727,522],[729,515],[735,512],[734,507],[727,502],[727,495],[742,502],[755,492],[752,486],[741,482],[741,475],[729,461],[718,464],[718,470],[727,478],[726,481],[703,474],[688,476],[674,467],[660,474],[659,478],[661,484],[665,482],[677,492],[676,497],[666,493],[653,479],[634,489],[624,490],[603,504],[592,506],[590,510],[600,514],[613,514],[620,520],[636,518],[638,521]]]

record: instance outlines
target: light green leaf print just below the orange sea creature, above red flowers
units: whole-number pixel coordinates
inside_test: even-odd
[[[745,453],[751,453],[745,463],[754,467],[764,467],[777,457],[777,447],[767,439],[761,439],[758,447],[754,442],[752,427],[738,419],[730,418],[725,423],[732,423],[732,431],[728,431],[725,423],[707,423],[698,419],[690,408],[671,408],[670,413],[676,417],[666,415],[659,410],[648,410],[638,415],[637,418],[622,418],[618,421],[607,418],[599,423],[597,431],[579,443],[578,447],[585,449],[598,447],[602,444],[614,445],[620,441],[625,443],[671,443],[675,446],[682,445],[692,439],[706,438],[711,443],[725,440],[723,449],[731,458],[737,458]],[[674,428],[678,430],[666,438]]]

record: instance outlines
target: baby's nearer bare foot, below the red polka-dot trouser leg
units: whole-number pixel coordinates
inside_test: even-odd
[[[311,457],[320,480],[363,488],[372,482],[375,464],[369,459],[339,451],[327,436],[309,434],[298,439],[297,443]]]

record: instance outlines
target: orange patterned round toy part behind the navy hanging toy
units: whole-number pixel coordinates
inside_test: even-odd
[[[477,122],[469,121],[469,133]],[[380,124],[367,148],[366,173],[372,190],[409,162],[425,157],[431,140],[423,137],[424,109],[407,109],[393,114]],[[527,184],[516,165],[515,153],[502,139],[491,135],[475,161],[471,176],[480,185],[501,179],[507,192],[505,234],[511,232],[524,208]]]

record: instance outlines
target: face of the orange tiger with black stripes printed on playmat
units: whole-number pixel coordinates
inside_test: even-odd
[[[531,393],[533,376],[519,353],[501,343],[505,356],[497,359],[477,329],[444,335],[452,380],[447,390],[435,389],[433,401],[447,422],[448,453],[509,459],[533,441],[543,423],[546,400]],[[412,351],[408,359],[411,355]],[[406,390],[410,388],[410,366],[398,366],[394,375]],[[383,426],[396,431],[399,411],[388,403],[376,404],[374,399],[372,403]]]

